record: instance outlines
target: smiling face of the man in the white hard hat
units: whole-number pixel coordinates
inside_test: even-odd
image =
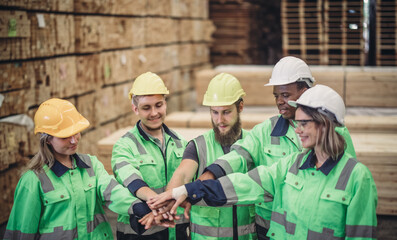
[[[297,83],[273,86],[273,95],[279,113],[284,119],[294,119],[296,108],[290,106],[288,101],[296,101],[305,91],[305,88],[298,90]]]

